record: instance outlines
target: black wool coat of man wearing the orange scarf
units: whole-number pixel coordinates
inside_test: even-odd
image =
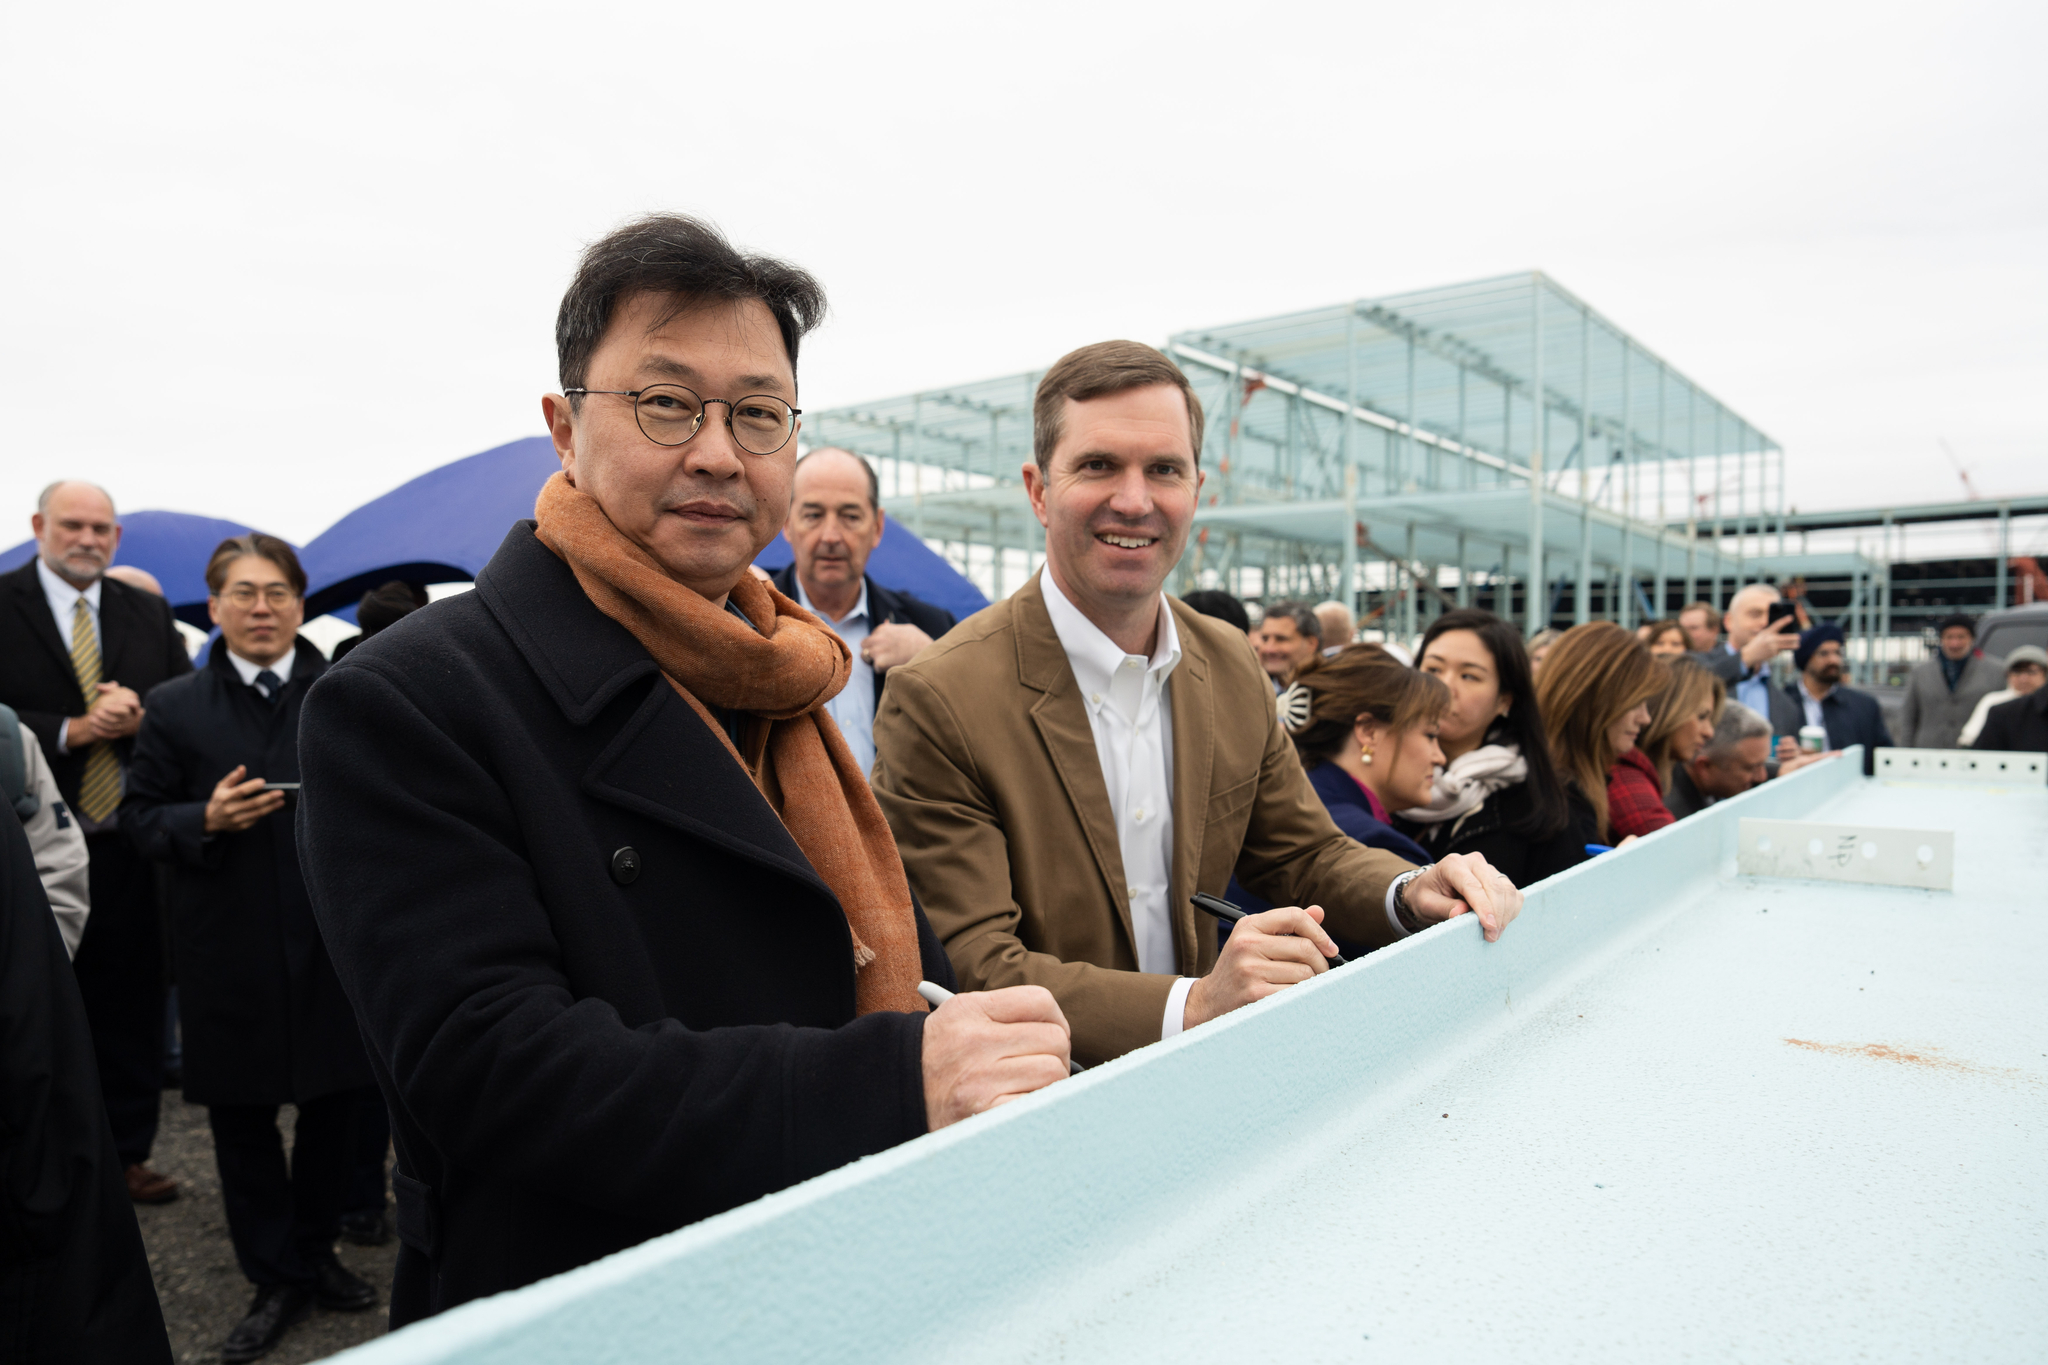
[[[926,1132],[924,1015],[854,1015],[840,902],[532,522],[328,669],[299,757],[399,1156],[393,1326]]]

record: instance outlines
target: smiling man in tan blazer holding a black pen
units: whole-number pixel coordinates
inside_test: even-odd
[[[963,988],[1038,984],[1102,1062],[1522,894],[1479,855],[1417,872],[1309,788],[1245,636],[1161,591],[1202,487],[1202,411],[1149,346],[1055,364],[1024,483],[1047,567],[891,673],[874,796]],[[1278,907],[1225,950],[1188,896]],[[1319,905],[1317,905],[1319,902]],[[1307,909],[1300,909],[1307,907]]]

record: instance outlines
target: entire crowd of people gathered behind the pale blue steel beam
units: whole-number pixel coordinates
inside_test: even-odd
[[[178,1197],[172,982],[254,1287],[221,1359],[252,1361],[313,1304],[399,1326],[532,1283],[1339,952],[1464,915],[1495,941],[1522,888],[1890,741],[1839,628],[1763,583],[1634,632],[1458,608],[1413,651],[1341,602],[1167,596],[1204,415],[1135,342],[1044,375],[1044,567],[956,622],[868,577],[872,467],[797,458],[821,313],[692,219],[594,244],[535,518],[473,593],[367,593],[332,661],[283,540],[213,553],[195,669],[113,569],[113,499],[43,493],[0,577],[10,1359],[168,1359],[129,1205]],[[754,569],[778,532],[793,563]],[[1905,743],[2038,737],[2048,655],[1968,626]],[[334,1244],[393,1232],[381,1300]]]

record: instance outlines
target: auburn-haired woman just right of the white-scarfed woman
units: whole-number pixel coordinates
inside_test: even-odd
[[[1673,821],[1657,769],[1636,747],[1669,677],[1642,641],[1612,620],[1573,626],[1544,659],[1536,702],[1550,755],[1591,817],[1589,839],[1620,843]]]

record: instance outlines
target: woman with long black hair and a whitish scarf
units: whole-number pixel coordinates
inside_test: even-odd
[[[1485,853],[1516,886],[1585,862],[1550,763],[1522,634],[1493,612],[1444,612],[1421,636],[1417,667],[1450,690],[1436,741],[1444,769],[1395,829],[1430,857]]]

